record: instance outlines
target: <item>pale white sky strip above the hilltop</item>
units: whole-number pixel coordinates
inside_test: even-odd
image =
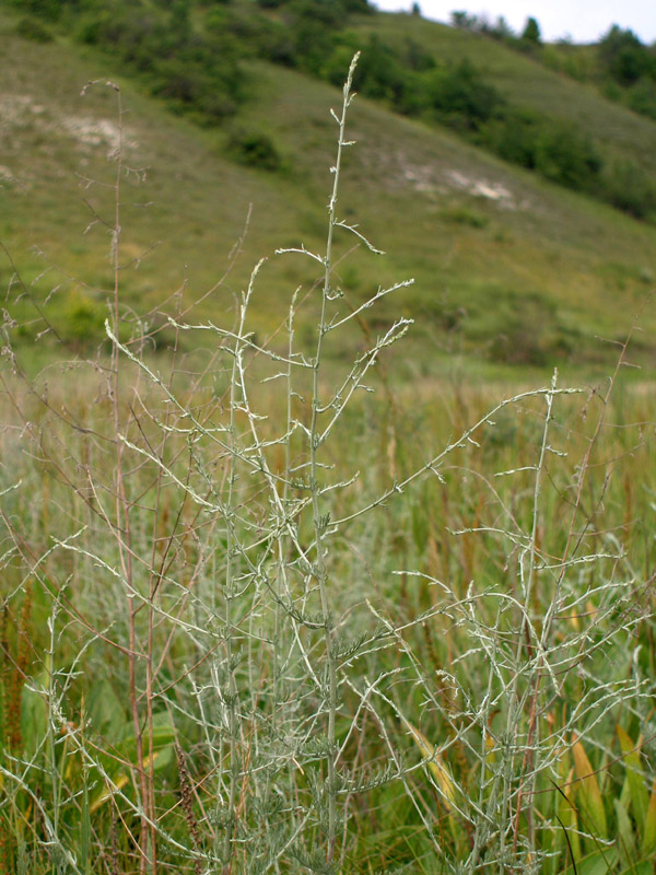
[[[374,0],[378,9],[408,11],[411,0]],[[426,19],[448,22],[453,10],[487,14],[491,22],[504,15],[515,31],[524,30],[526,19],[537,19],[542,38],[570,36],[575,43],[595,43],[611,24],[631,28],[643,43],[656,42],[656,2],[654,0],[419,0]]]

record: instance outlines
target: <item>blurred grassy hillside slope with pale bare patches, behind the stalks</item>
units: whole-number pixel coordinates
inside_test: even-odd
[[[286,316],[281,293],[296,285],[307,291],[316,279],[303,259],[277,258],[273,252],[302,243],[317,249],[325,238],[335,136],[329,109],[338,91],[298,72],[249,61],[250,81],[257,82],[253,97],[223,126],[199,129],[166,112],[92,49],[65,36],[37,45],[15,34],[15,19],[2,22],[1,238],[27,284],[56,266],[31,290],[45,300],[58,287],[47,304],[56,327],[78,348],[87,346],[90,335],[102,337],[104,290],[112,284],[109,238],[102,223],[84,232],[96,218],[92,210],[101,217],[112,210],[112,190],[89,180],[113,180],[107,155],[116,144],[117,106],[110,89],[80,92],[89,80],[109,77],[121,85],[126,163],[145,171],[125,179],[126,262],[156,244],[122,273],[126,305],[151,312],[161,324],[161,314],[178,305],[171,298],[177,289],[185,287],[187,303],[201,299],[222,277],[250,214],[237,262],[198,305],[197,317],[230,318],[251,266],[270,256],[256,292],[254,328],[274,331]],[[642,140],[628,136],[625,148],[647,164],[653,161],[646,143],[656,125],[491,40],[405,15],[378,15],[359,26],[380,28],[386,40],[406,35],[432,40],[432,50],[450,50],[454,57],[475,46],[485,52],[478,62],[500,88],[524,89],[525,101],[532,95],[563,113],[587,114],[618,149],[624,124],[631,122]],[[364,30],[362,38],[367,38]],[[414,285],[376,317],[382,324],[399,311],[417,317],[417,354],[409,368],[434,371],[438,362],[450,368],[460,353],[466,366],[480,371],[482,363],[485,372],[508,362],[606,366],[612,351],[596,336],[623,336],[649,292],[656,276],[653,226],[363,98],[350,124],[358,149],[347,160],[342,213],[390,255],[378,259],[361,247],[340,264],[341,282],[348,301],[356,304],[378,284],[414,278]],[[235,161],[230,147],[235,135],[243,140],[253,131],[273,143],[277,171]],[[7,287],[8,260],[1,270]],[[28,324],[15,339],[31,342],[44,326],[16,290],[13,285],[9,295],[20,299],[12,315]],[[652,324],[647,310],[640,341],[644,354],[652,348]]]

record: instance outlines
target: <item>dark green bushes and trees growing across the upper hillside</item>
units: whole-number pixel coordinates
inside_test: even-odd
[[[215,126],[233,116],[254,88],[243,61],[260,57],[296,68],[339,86],[343,69],[362,38],[349,30],[349,16],[373,12],[366,0],[260,0],[257,4],[202,4],[197,0],[148,3],[63,3],[21,0],[32,13],[20,25],[25,36],[47,38],[43,21],[118,58],[177,113]],[[38,16],[38,18],[36,18]],[[410,16],[412,18],[412,16]],[[454,12],[454,24],[508,45],[540,44],[539,25],[529,18],[522,37],[503,19]],[[42,28],[42,30],[39,30]],[[540,48],[540,51],[542,49]],[[653,54],[631,31],[613,27],[601,40],[600,57],[621,97],[636,112],[656,117]],[[552,58],[552,63],[554,62]],[[652,195],[639,197],[640,175],[625,167],[605,168],[604,155],[577,122],[554,119],[505,100],[469,57],[437,61],[413,37],[391,45],[370,33],[355,73],[355,88],[408,116],[446,125],[505,161],[532,170],[567,188],[585,191],[636,218],[651,212]],[[233,142],[242,161],[280,167],[270,141]],[[622,179],[629,185],[621,191]]]

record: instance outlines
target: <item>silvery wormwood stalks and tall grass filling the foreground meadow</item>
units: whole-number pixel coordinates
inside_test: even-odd
[[[338,210],[356,61],[326,249],[277,253],[321,275],[291,296],[284,342],[248,329],[262,260],[231,328],[192,324],[183,290],[171,359],[151,354],[162,327],[120,299],[119,148],[109,353],[30,382],[7,347],[7,872],[652,872],[652,578],[596,455],[626,346],[585,421],[554,375],[415,467],[397,422],[378,475],[356,448],[367,384],[410,322],[339,378],[329,360],[409,282],[351,307],[339,288],[338,235],[376,253]],[[524,450],[477,468],[511,413]],[[628,434],[610,460],[648,459]],[[440,495],[456,505],[442,545]]]

